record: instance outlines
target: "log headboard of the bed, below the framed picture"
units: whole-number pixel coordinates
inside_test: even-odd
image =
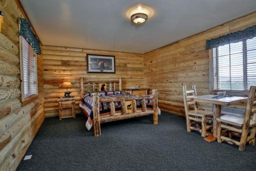
[[[118,80],[86,80],[86,78],[80,78],[80,96],[82,97],[86,92],[97,91],[99,84],[106,84],[108,90],[119,90],[122,91],[122,79],[119,77]],[[117,89],[118,84],[118,89]]]

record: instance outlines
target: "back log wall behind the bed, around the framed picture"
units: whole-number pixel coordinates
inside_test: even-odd
[[[115,55],[116,74],[88,74],[87,53]],[[131,86],[143,86],[143,55],[102,50],[42,46],[44,59],[44,97],[46,117],[58,115],[57,98],[64,95],[66,89],[60,88],[63,81],[73,83],[71,95],[76,101],[76,113],[79,113],[80,77],[84,80],[118,80],[122,78],[122,89]]]

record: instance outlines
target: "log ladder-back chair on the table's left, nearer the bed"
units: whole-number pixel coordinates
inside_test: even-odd
[[[187,132],[198,131],[201,133],[202,137],[207,135],[207,130],[212,128],[211,125],[207,125],[209,119],[212,118],[211,111],[203,111],[199,110],[199,104],[195,101],[188,101],[188,98],[193,98],[197,96],[196,86],[192,86],[193,90],[187,90],[186,85],[183,86],[183,101],[184,108],[186,113],[186,124],[187,124]],[[192,96],[187,96],[187,94],[193,94]],[[194,110],[189,110],[189,105],[194,105]],[[193,122],[191,122],[191,120]],[[197,127],[194,127],[196,125]]]

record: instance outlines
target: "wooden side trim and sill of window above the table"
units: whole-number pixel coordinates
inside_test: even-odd
[[[219,91],[222,90],[214,90],[214,56],[213,56],[213,50],[209,49],[209,91],[211,94],[216,94]],[[243,51],[243,53],[245,53]],[[244,54],[243,54],[244,55]],[[244,60],[244,59],[243,59]],[[227,95],[233,95],[233,96],[248,96],[249,91],[248,90],[225,90],[227,92]]]

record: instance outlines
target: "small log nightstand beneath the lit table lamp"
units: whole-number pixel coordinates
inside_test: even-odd
[[[75,98],[59,98],[59,120],[62,118],[76,118]]]

